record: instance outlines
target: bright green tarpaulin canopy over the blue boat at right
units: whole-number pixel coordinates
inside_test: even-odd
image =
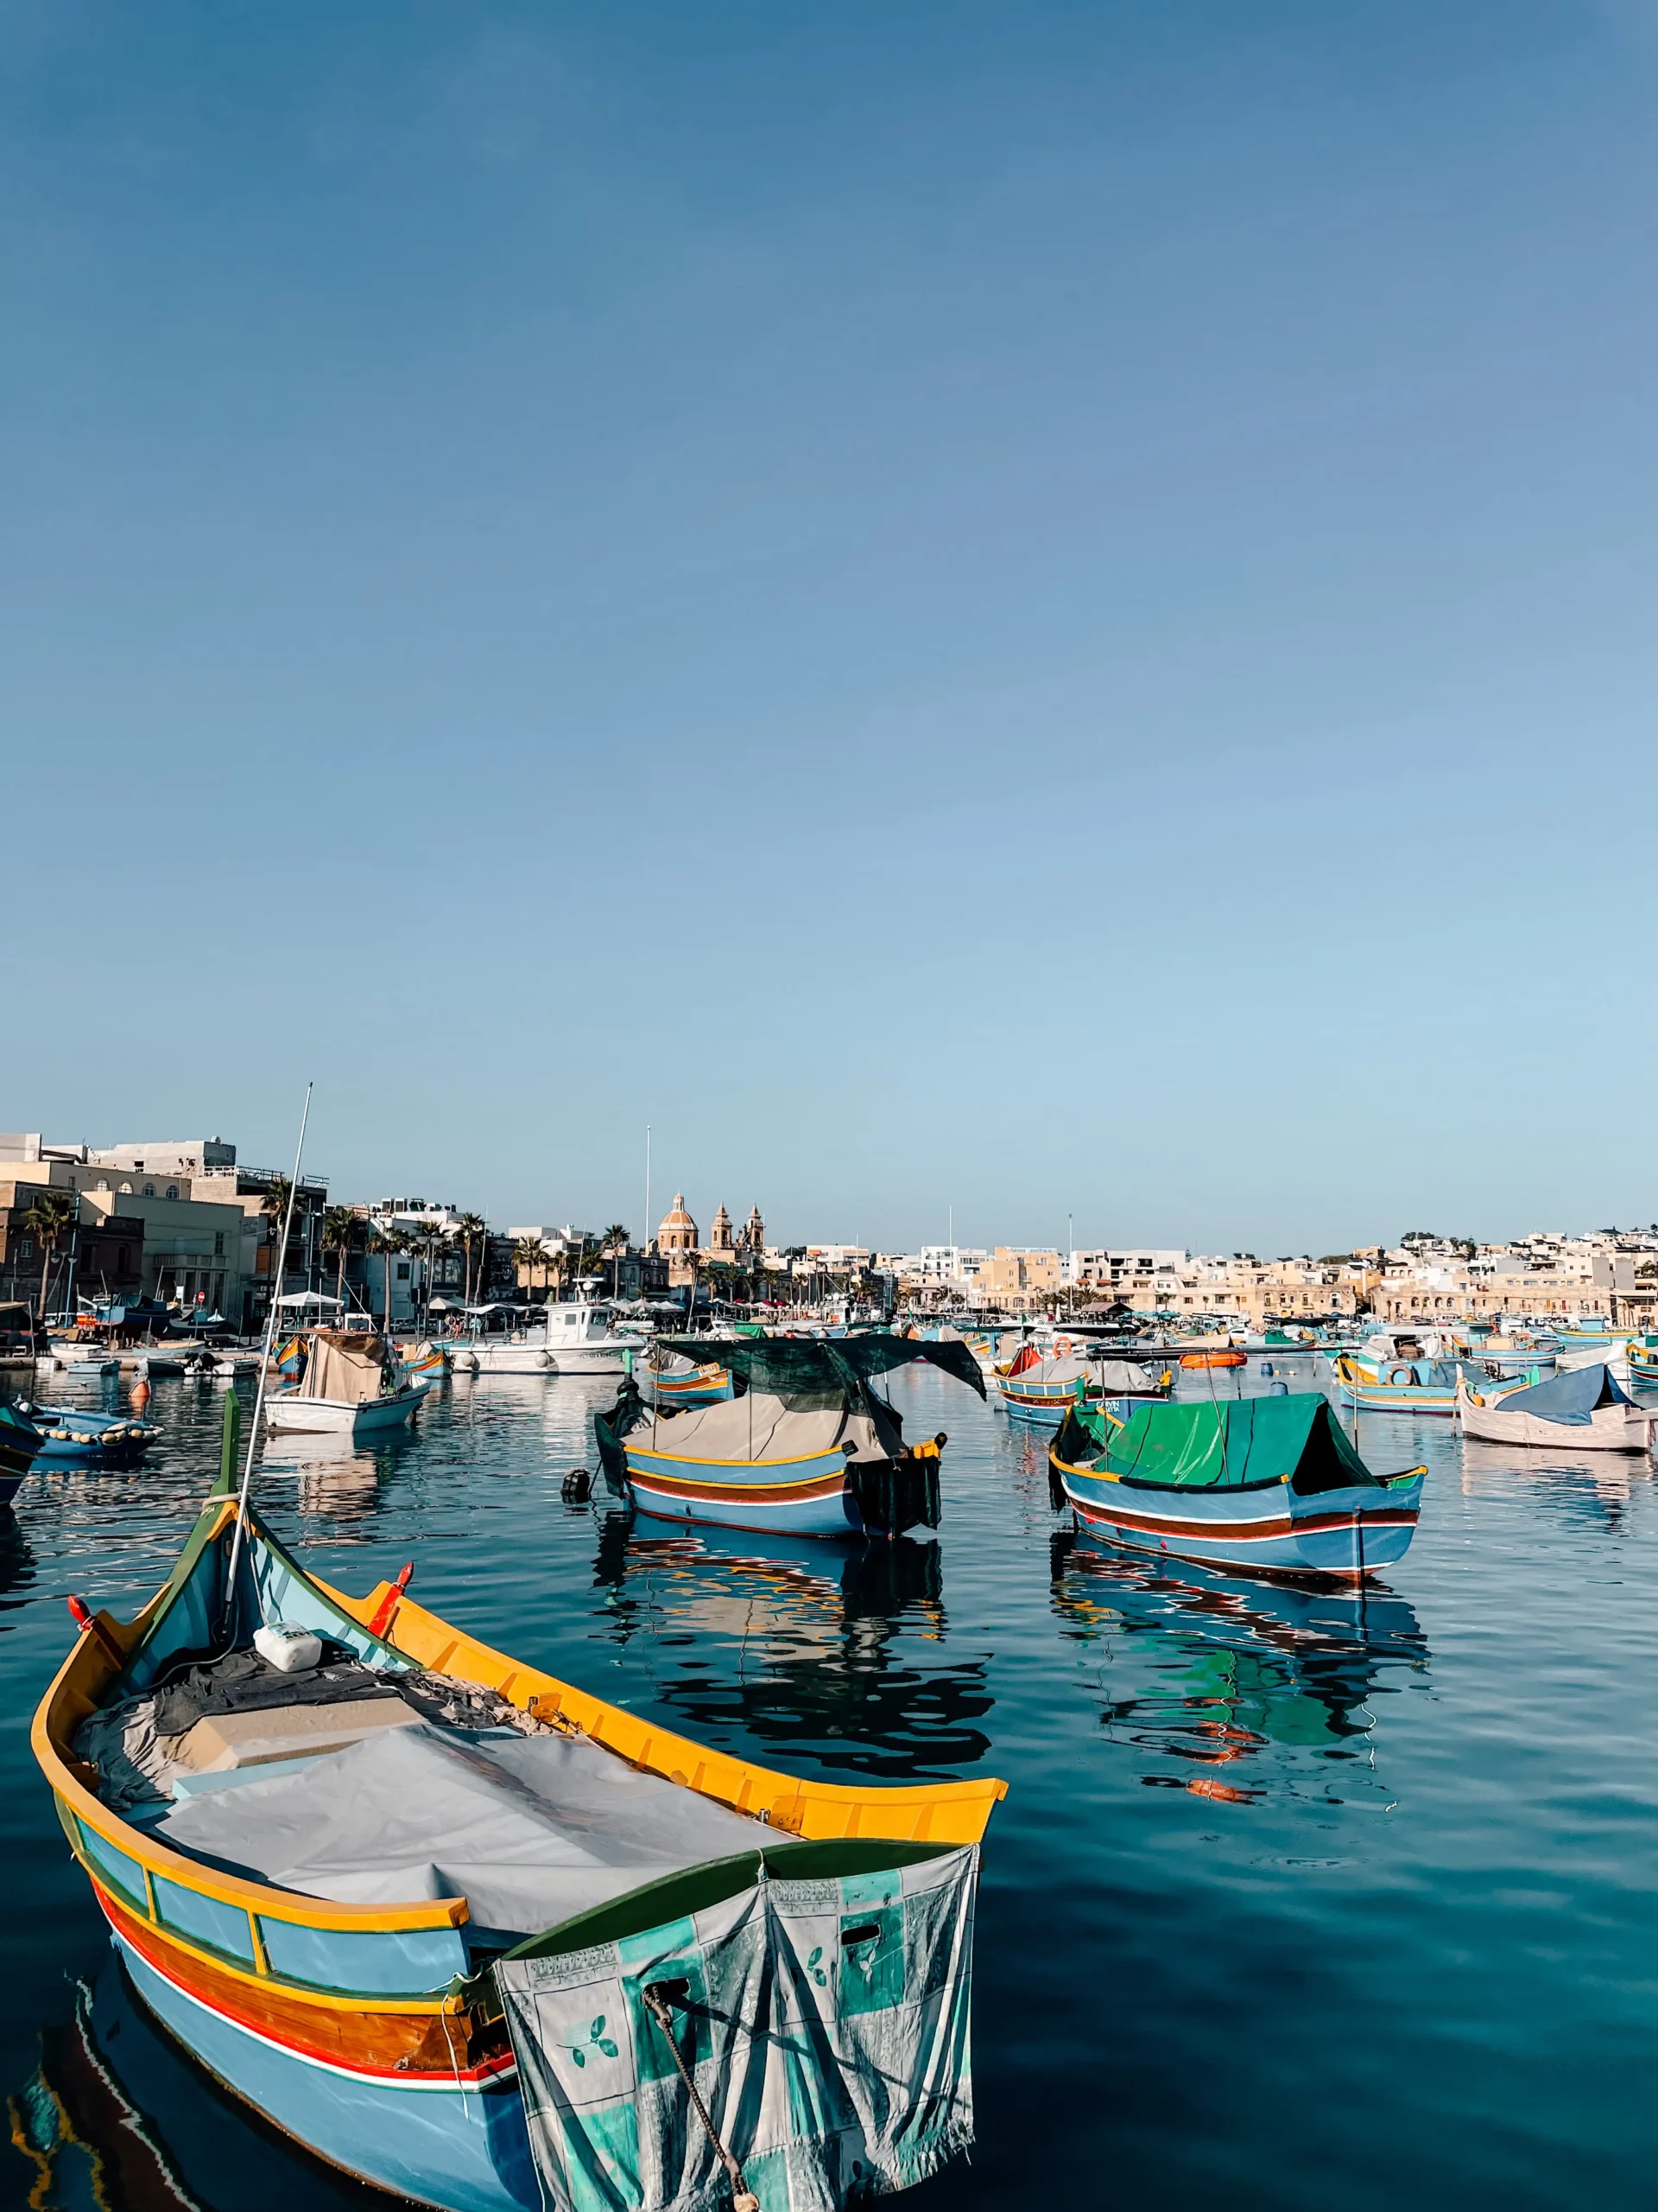
[[[1085,1440],[1094,1442],[1099,1473],[1161,1489],[1236,1491],[1289,1475],[1300,1491],[1375,1482],[1318,1391],[1187,1405],[1147,1400],[1121,1422],[1090,1407],[1068,1418],[1054,1451],[1063,1460],[1066,1444]]]

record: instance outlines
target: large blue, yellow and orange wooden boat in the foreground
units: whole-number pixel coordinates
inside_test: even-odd
[[[186,2051],[451,2212],[712,2203],[714,2135],[763,2201],[838,2205],[970,2141],[1004,1783],[754,1765],[478,1644],[407,1582],[332,1588],[225,1473],[133,1621],[80,1608],[33,1752]]]

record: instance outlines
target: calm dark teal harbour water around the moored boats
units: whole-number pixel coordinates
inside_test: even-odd
[[[829,1776],[1008,1781],[979,1907],[979,2146],[917,2212],[1654,2201],[1645,1460],[1364,1416],[1373,1467],[1426,1458],[1433,1478],[1415,1548],[1360,1601],[1074,1544],[1046,1442],[924,1369],[895,1394],[911,1433],[951,1433],[937,1542],[849,1562],[650,1542],[559,1500],[610,1391],[458,1383],[409,1444],[272,1447],[259,1498],[329,1579],[411,1557],[427,1606],[705,1741]],[[217,1467],[210,1389],[164,1383],[153,1418],[146,1471],[33,1478],[0,1515],[0,2070],[24,2093],[44,2048],[91,2139],[51,2174],[0,2150],[7,2203],[155,2201],[119,2101],[66,2055],[75,1980],[108,1947],[29,1756],[64,1593],[133,1610]],[[119,2002],[108,1975],[97,2002]],[[139,2015],[111,2057],[201,2205],[387,2203],[263,2135]]]

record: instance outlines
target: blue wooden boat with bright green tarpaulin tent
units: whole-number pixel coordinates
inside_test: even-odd
[[[1373,1475],[1318,1391],[1079,1407],[1048,1462],[1101,1542],[1342,1579],[1404,1557],[1428,1473]]]

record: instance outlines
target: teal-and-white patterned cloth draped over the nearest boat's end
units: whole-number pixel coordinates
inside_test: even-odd
[[[979,1854],[760,1880],[668,1927],[502,1960],[531,2150],[557,2212],[730,2212],[650,1984],[763,2212],[902,2190],[973,2141],[968,1986]]]

